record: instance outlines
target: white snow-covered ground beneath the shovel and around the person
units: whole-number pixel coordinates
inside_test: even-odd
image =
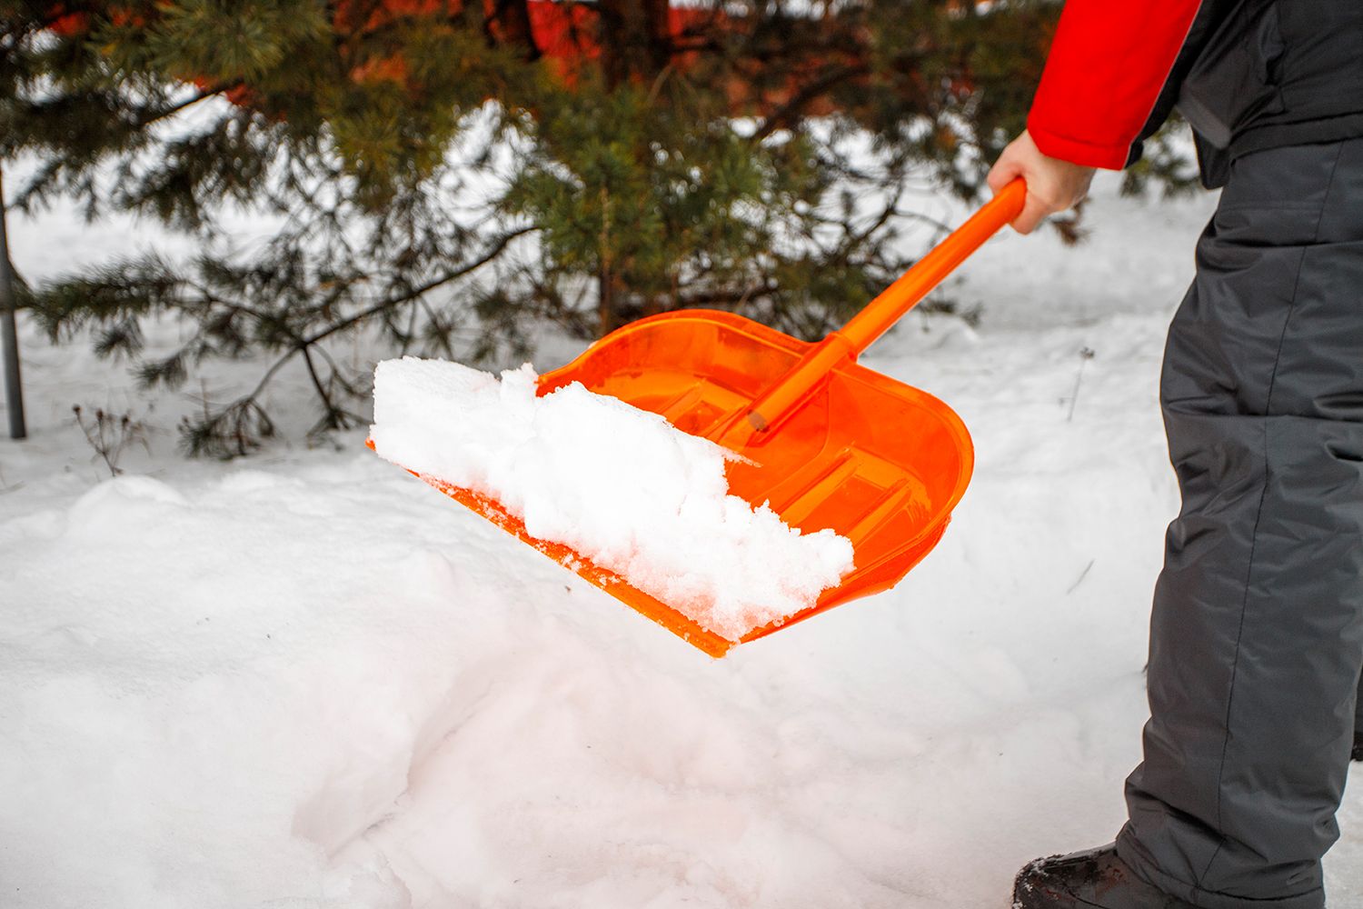
[[[0,905],[1002,909],[1022,863],[1109,839],[1176,508],[1157,365],[1213,200],[1096,195],[1082,248],[1006,236],[966,264],[950,293],[977,330],[910,319],[864,358],[975,436],[936,551],[722,661],[363,432],[307,448],[301,386],[274,392],[292,442],[189,462],[191,397],[25,324]],[[144,237],[61,213],[11,230],[30,278]],[[129,413],[150,451],[109,480],[72,405]],[[1355,905],[1358,792],[1341,825],[1330,897]]]

